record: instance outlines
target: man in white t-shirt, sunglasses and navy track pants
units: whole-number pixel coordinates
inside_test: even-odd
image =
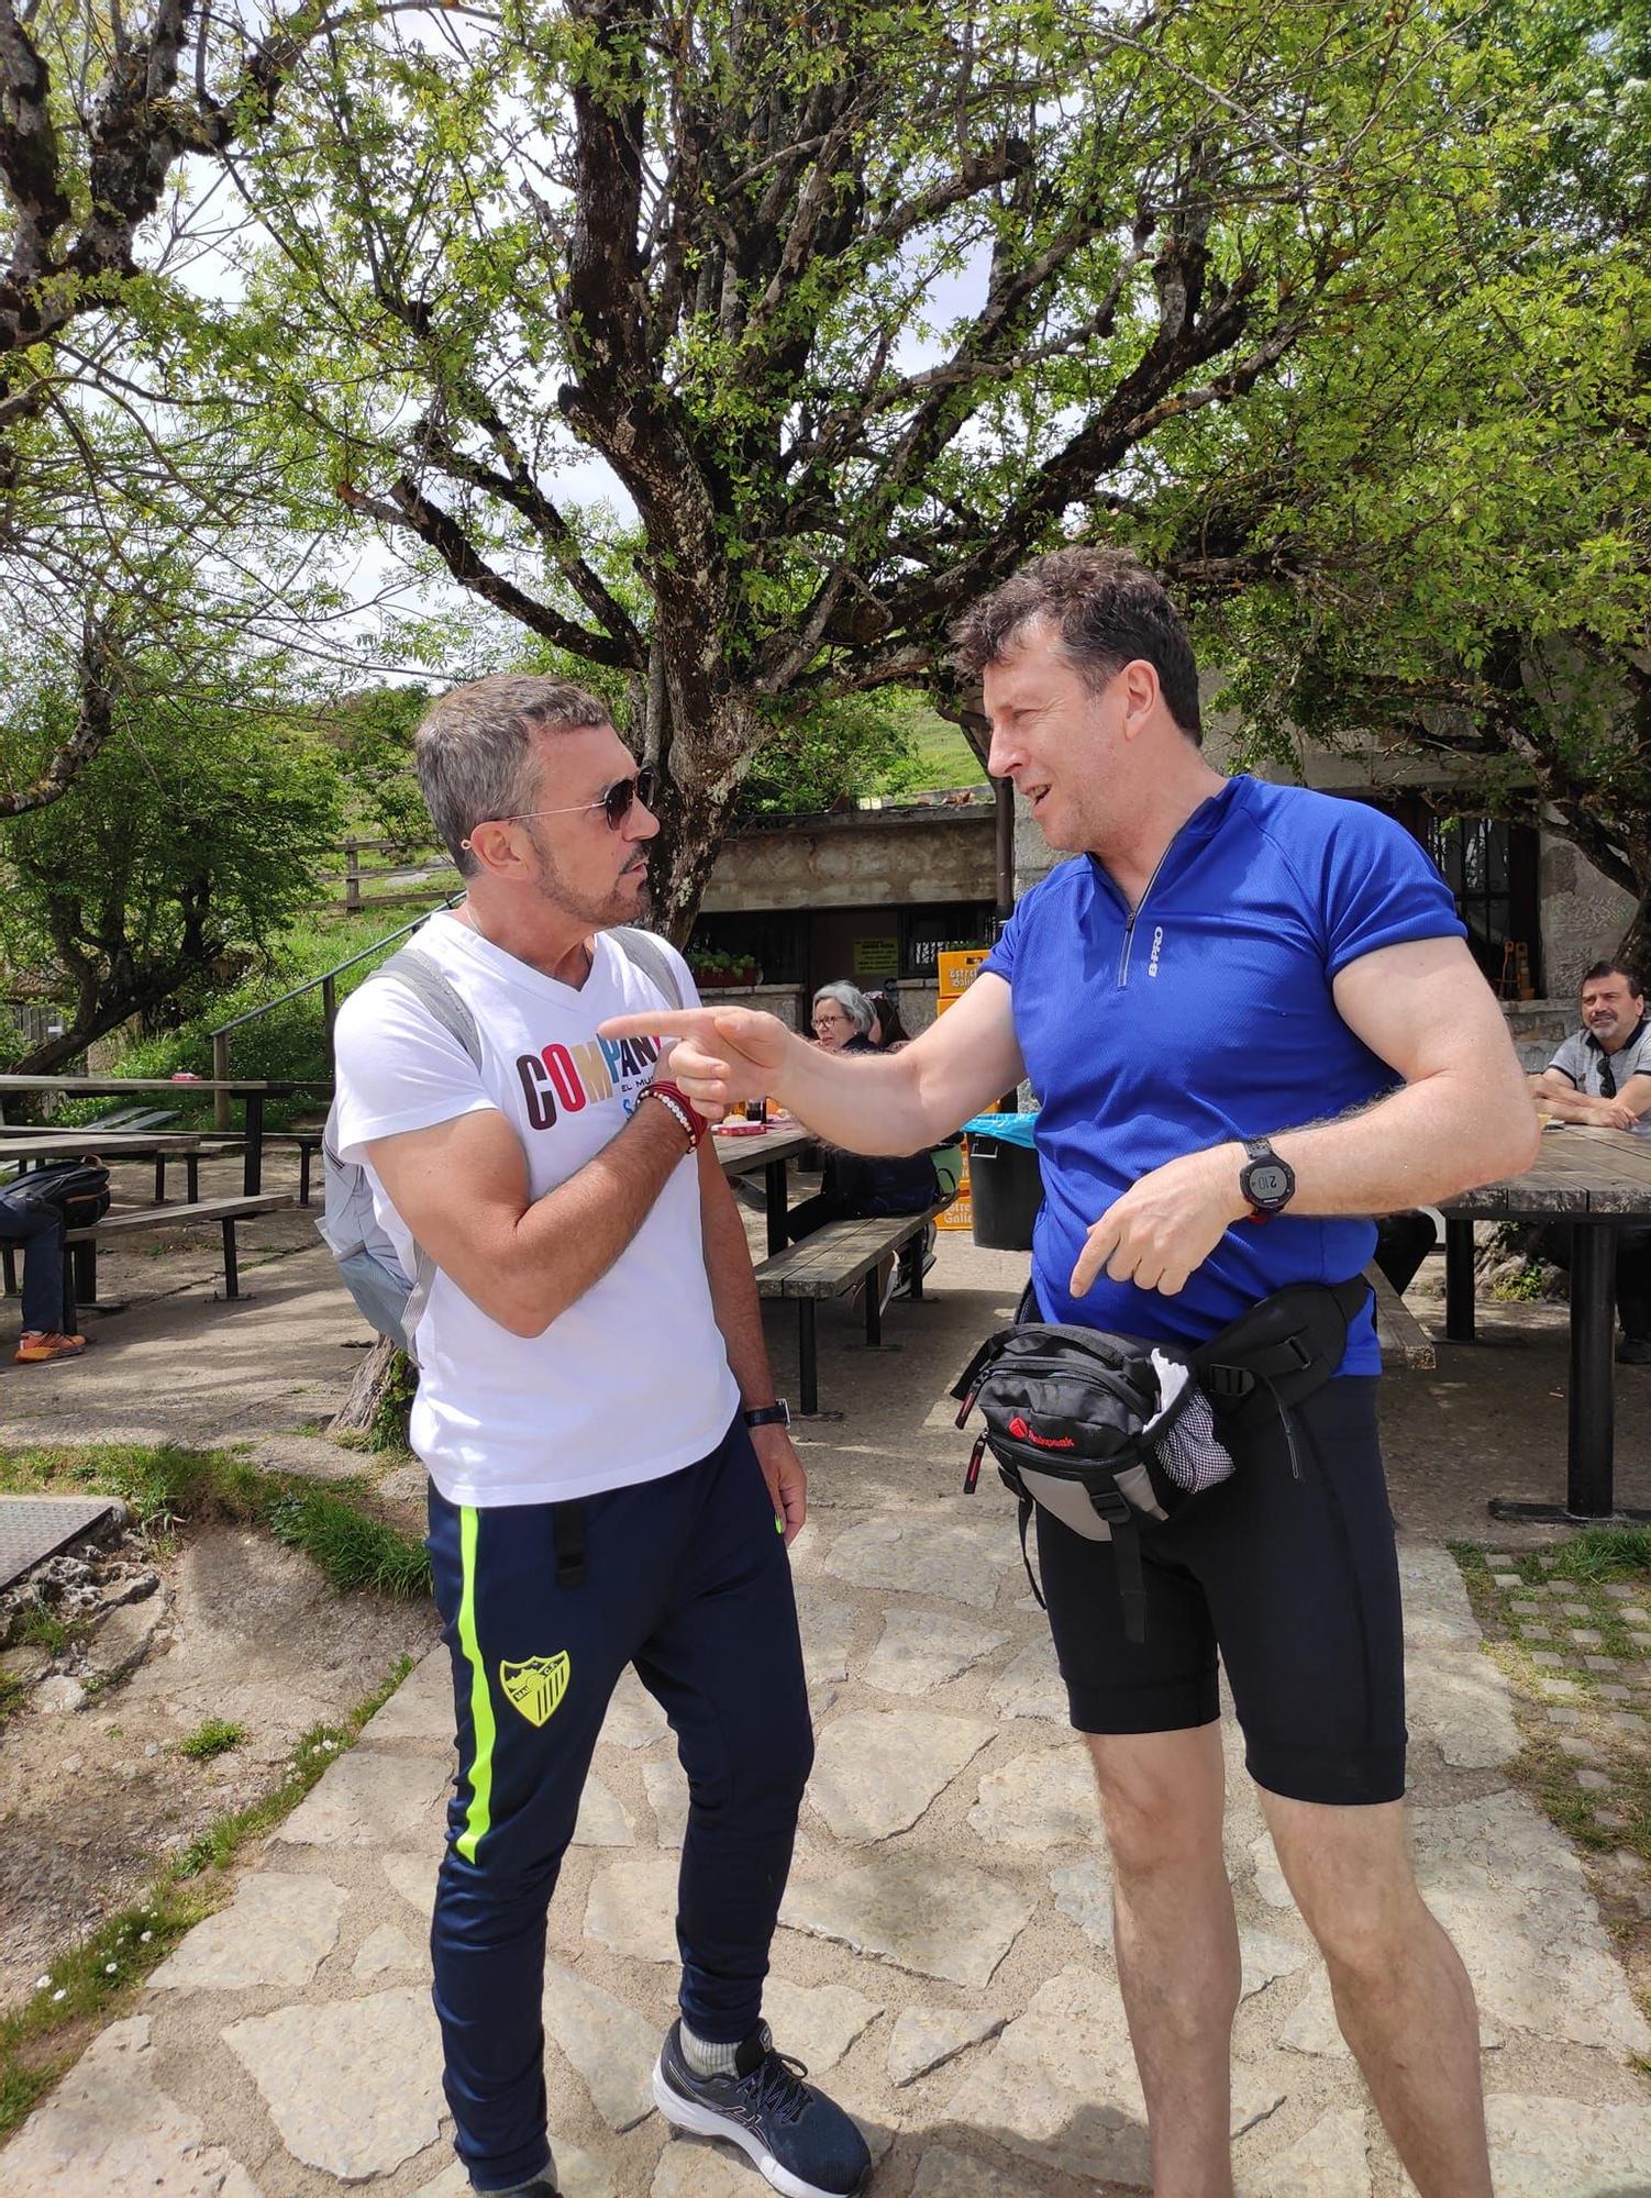
[[[415,950],[481,1059],[394,978],[363,985],[339,1015],[339,1147],[405,1270],[435,1264],[411,1440],[457,1712],[431,1934],[457,2152],[477,2191],[554,2198],[545,1910],[633,1664],[690,1791],[655,2101],[776,2187],[849,2198],[864,2139],[761,2020],[813,1756],[785,1556],[802,1468],[703,1117],[657,1042],[596,1035],[675,1004],[660,956],[695,998],[673,950],[609,936],[646,901],[651,780],[600,701],[534,677],[437,701],[418,774],[468,899]]]

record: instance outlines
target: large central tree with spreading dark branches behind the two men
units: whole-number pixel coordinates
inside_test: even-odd
[[[752,758],[943,679],[980,589],[1451,200],[1477,0],[508,0],[306,48],[237,371],[426,571],[611,677],[684,936]],[[259,319],[262,317],[262,319]],[[607,468],[629,508],[580,501]],[[802,736],[807,739],[807,736]]]

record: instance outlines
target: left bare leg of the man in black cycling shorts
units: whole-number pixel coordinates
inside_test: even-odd
[[[1220,1853],[1220,1728],[1090,1734],[1112,1849],[1112,1943],[1156,2198],[1233,2198],[1238,1923]]]

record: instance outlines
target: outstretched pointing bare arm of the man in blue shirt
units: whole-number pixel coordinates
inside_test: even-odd
[[[772,1092],[844,1152],[921,1152],[1027,1073],[1009,987],[978,976],[956,1007],[899,1053],[827,1053],[752,1009],[618,1015],[602,1037],[675,1037],[671,1075],[712,1119]]]

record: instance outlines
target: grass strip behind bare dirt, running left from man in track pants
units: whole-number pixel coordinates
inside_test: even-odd
[[[431,1587],[424,1543],[376,1517],[372,1484],[361,1477],[310,1481],[299,1473],[266,1473],[235,1451],[44,1444],[0,1451],[0,1488],[114,1495],[149,1534],[204,1519],[257,1525],[301,1550],[341,1594],[372,1589],[415,1600]]]

